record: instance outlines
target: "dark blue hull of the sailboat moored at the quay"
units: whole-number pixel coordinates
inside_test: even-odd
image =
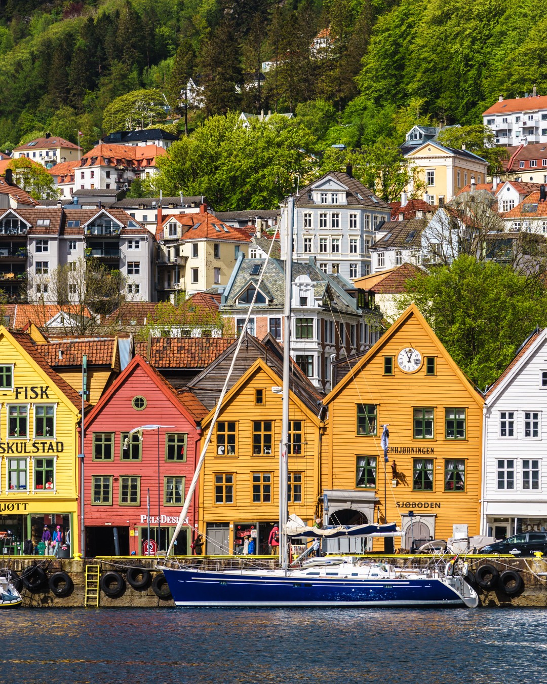
[[[439,579],[350,579],[228,574],[163,568],[181,607],[461,606]]]

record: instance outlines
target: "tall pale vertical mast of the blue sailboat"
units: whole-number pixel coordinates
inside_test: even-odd
[[[289,386],[291,374],[291,298],[293,295],[293,229],[295,200],[289,197],[286,215],[285,311],[283,335],[283,420],[279,449],[279,553],[282,568],[288,565],[286,548],[288,454],[289,454]]]

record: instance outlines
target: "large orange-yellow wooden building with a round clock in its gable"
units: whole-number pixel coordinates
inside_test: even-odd
[[[395,522],[405,532],[395,546],[403,548],[446,540],[453,525],[479,534],[483,398],[414,304],[324,404],[325,522]]]

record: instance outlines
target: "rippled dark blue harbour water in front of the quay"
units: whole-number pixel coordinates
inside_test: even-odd
[[[547,679],[547,611],[4,610],[2,684]]]

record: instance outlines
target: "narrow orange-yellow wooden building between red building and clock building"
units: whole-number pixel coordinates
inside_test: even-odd
[[[200,477],[198,525],[206,553],[242,553],[245,536],[254,538],[257,555],[268,553],[269,533],[279,521],[280,369],[277,358],[269,365],[258,358],[226,393]],[[293,378],[289,514],[312,523],[321,494],[321,402],[295,366]],[[213,415],[202,421],[204,433]]]

